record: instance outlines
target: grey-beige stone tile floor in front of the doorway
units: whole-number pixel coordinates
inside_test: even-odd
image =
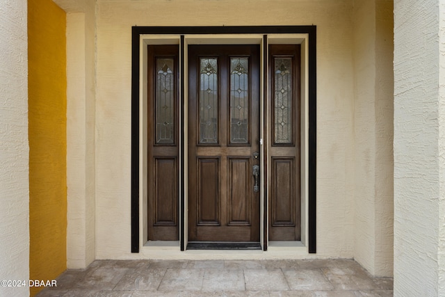
[[[354,260],[97,260],[68,270],[44,296],[392,296]]]

